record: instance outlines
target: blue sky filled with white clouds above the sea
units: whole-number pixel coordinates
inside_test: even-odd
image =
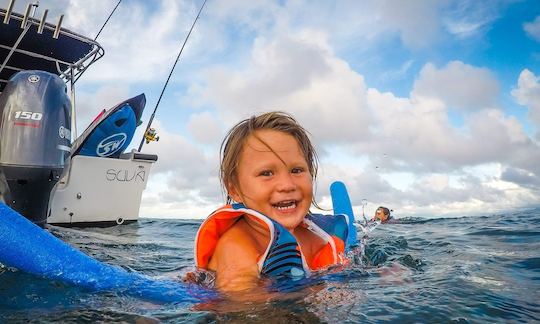
[[[94,38],[117,2],[42,0],[36,16],[64,14],[64,27]],[[140,93],[146,124],[201,5],[121,2],[97,39],[105,56],[76,84],[79,132]],[[336,180],[357,215],[538,207],[540,4],[208,0],[157,109],[160,140],[142,150],[159,159],[140,216],[204,218],[223,204],[221,141],[270,110],[311,133],[324,208]]]

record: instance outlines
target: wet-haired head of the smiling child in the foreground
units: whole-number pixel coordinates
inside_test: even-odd
[[[289,230],[309,211],[317,155],[307,131],[284,112],[242,120],[221,144],[227,203],[241,202]]]

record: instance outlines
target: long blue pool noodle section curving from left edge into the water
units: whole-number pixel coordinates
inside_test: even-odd
[[[92,291],[121,291],[162,302],[197,302],[215,291],[158,280],[109,265],[74,249],[0,203],[0,263],[33,275]]]

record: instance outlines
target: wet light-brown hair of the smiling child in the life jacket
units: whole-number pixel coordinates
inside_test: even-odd
[[[237,173],[238,162],[249,136],[252,135],[257,138],[281,160],[281,157],[274,149],[255,134],[256,131],[263,129],[280,131],[289,134],[296,139],[308,164],[312,181],[313,183],[316,183],[315,180],[317,178],[318,170],[317,153],[315,152],[313,144],[311,144],[308,131],[300,126],[296,119],[285,112],[267,112],[258,116],[251,116],[234,125],[221,143],[220,181],[224,192],[227,193],[227,204],[232,202],[232,198],[228,194],[228,188],[230,186],[239,187]],[[314,199],[315,198],[313,198],[313,203],[317,206]]]

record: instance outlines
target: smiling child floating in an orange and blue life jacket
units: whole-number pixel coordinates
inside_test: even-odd
[[[293,117],[269,112],[236,124],[220,169],[227,205],[195,241],[196,265],[215,271],[218,289],[251,289],[262,277],[301,278],[343,262],[347,217],[309,212],[317,156]]]

